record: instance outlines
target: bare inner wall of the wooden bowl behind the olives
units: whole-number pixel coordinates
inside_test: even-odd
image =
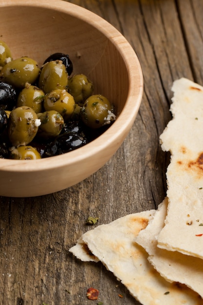
[[[14,58],[28,56],[40,66],[55,52],[69,54],[73,73],[89,76],[94,93],[107,96],[121,112],[129,90],[128,71],[116,46],[95,26],[67,11],[32,5],[2,7],[0,23],[1,39]]]

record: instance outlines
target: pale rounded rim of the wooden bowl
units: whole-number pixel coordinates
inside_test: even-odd
[[[57,156],[52,156],[48,158],[42,158],[37,160],[12,160],[12,159],[0,159],[0,171],[8,172],[38,172],[44,169],[53,170],[58,168],[61,164],[62,166],[67,166],[69,164],[77,163],[93,154],[99,152],[100,150],[108,149],[109,144],[114,145],[122,140],[118,140],[119,134],[123,135],[123,140],[129,133],[133,122],[138,113],[144,88],[144,80],[142,74],[142,68],[139,59],[133,50],[132,46],[129,44],[127,39],[107,20],[96,15],[95,13],[83,8],[79,5],[66,2],[64,0],[29,0],[25,3],[24,0],[1,0],[0,7],[15,7],[15,6],[25,6],[25,7],[38,7],[56,10],[62,13],[68,13],[69,15],[80,18],[88,24],[94,26],[98,31],[103,33],[113,45],[116,47],[118,52],[121,54],[124,62],[126,63],[128,76],[129,76],[129,91],[127,95],[127,103],[123,107],[119,116],[116,118],[115,122],[111,127],[101,134],[98,138],[94,139],[92,142],[86,144],[85,146],[76,149],[72,152],[67,152]],[[91,20],[91,22],[90,22]],[[111,29],[111,30],[110,30]],[[119,48],[118,48],[119,42]],[[130,67],[129,67],[130,59]],[[137,83],[137,78],[139,78],[139,83]],[[136,103],[134,102],[136,100]],[[128,120],[124,120],[124,117],[128,117]],[[111,135],[111,137],[109,137]]]

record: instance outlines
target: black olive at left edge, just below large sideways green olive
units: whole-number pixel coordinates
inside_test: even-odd
[[[13,110],[16,104],[16,89],[3,81],[0,81],[0,107],[6,110]]]

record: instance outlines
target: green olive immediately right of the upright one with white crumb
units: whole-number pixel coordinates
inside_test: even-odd
[[[38,135],[44,139],[57,136],[63,127],[63,116],[55,110],[49,110],[37,115],[41,121],[38,129]]]

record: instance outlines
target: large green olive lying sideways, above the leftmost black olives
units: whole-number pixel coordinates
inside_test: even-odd
[[[24,88],[28,82],[35,83],[40,69],[37,61],[30,57],[20,57],[8,62],[0,72],[0,78],[16,88]]]

